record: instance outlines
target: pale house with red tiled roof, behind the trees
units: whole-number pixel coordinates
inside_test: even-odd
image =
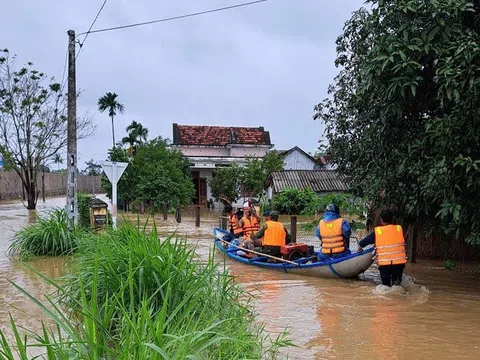
[[[273,147],[263,127],[203,126],[173,124],[172,147],[190,162],[196,204],[212,198],[207,179],[217,167],[245,164],[248,156],[263,157]]]

